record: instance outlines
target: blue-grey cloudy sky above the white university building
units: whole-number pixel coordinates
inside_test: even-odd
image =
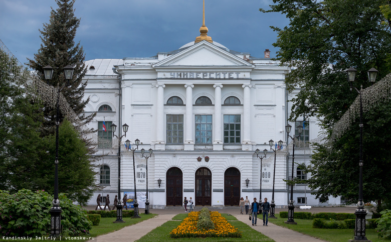
[[[263,57],[278,49],[277,33],[269,26],[289,21],[279,13],[263,14],[271,0],[206,0],[208,36],[227,48]],[[0,39],[21,61],[34,58],[41,45],[40,32],[49,23],[54,0],[0,0]],[[151,57],[194,41],[202,25],[202,0],[76,0],[81,18],[76,34],[86,60]]]

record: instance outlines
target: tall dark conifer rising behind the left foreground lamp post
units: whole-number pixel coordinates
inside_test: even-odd
[[[68,103],[78,115],[82,123],[89,123],[95,114],[86,116],[84,107],[89,98],[83,100],[84,90],[87,83],[82,82],[82,78],[87,71],[85,66],[85,54],[80,42],[75,45],[77,28],[80,19],[74,15],[73,5],[75,0],[56,0],[57,10],[53,10],[49,24],[44,24],[40,30],[42,44],[38,53],[34,55],[34,60],[28,59],[29,66],[37,71],[41,80],[45,80],[43,67],[50,65],[54,68],[53,77],[48,81],[52,86],[64,85],[66,83],[63,68],[67,65],[74,67],[74,75],[70,81],[71,87],[62,91]],[[56,110],[45,107],[45,117],[43,135],[55,132]],[[60,121],[63,119],[60,114]]]

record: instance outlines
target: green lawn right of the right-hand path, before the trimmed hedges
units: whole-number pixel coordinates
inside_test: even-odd
[[[269,222],[330,242],[346,242],[347,240],[353,239],[354,237],[354,229],[313,228],[312,220],[306,219],[295,219],[297,224],[286,224],[285,221],[288,220],[287,218],[280,218],[279,214],[276,214],[276,217],[278,218],[269,219]],[[372,240],[373,242],[391,241],[391,239],[378,238],[375,229],[366,229],[366,238]]]

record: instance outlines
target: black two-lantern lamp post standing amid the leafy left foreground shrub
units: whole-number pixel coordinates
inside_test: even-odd
[[[49,65],[44,68],[45,79],[50,80],[53,77],[53,68]],[[60,207],[60,200],[58,199],[58,146],[59,146],[59,126],[60,126],[60,92],[64,89],[65,86],[69,86],[69,81],[73,76],[73,67],[67,65],[64,67],[64,75],[67,80],[67,84],[63,85],[61,88],[57,82],[57,104],[56,104],[56,159],[54,161],[55,171],[54,171],[54,198],[52,201],[52,208],[50,209],[50,236],[52,237],[61,237],[61,213],[63,212]]]

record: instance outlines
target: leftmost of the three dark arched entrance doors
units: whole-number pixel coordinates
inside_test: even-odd
[[[167,171],[166,179],[167,206],[182,206],[182,171],[173,167]]]

